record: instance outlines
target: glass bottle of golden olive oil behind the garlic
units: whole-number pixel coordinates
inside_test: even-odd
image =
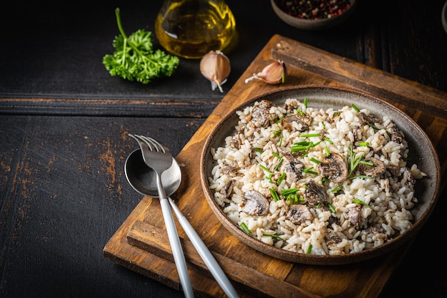
[[[155,34],[169,53],[201,58],[231,43],[236,21],[225,0],[164,0]]]

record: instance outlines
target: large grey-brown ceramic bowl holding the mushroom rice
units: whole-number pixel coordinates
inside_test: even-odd
[[[310,255],[267,245],[246,234],[241,227],[228,219],[226,213],[224,213],[214,200],[214,191],[209,187],[209,177],[212,176],[211,170],[216,165],[216,161],[211,155],[211,148],[225,146],[226,136],[233,135],[236,132],[234,128],[238,123],[236,111],[262,99],[272,101],[276,105],[281,106],[287,98],[308,98],[308,102],[311,103],[313,108],[324,108],[325,110],[327,108],[342,108],[346,105],[351,106],[352,103],[355,103],[358,108],[368,108],[371,113],[375,113],[376,115],[388,115],[396,123],[396,126],[405,134],[412,163],[416,163],[418,168],[427,174],[425,178],[416,180],[415,196],[418,198],[418,203],[411,209],[414,217],[413,225],[406,232],[385,242],[381,246],[361,252],[353,252],[347,255]],[[206,139],[201,153],[200,167],[202,187],[206,195],[206,200],[209,202],[214,215],[241,242],[266,255],[288,262],[325,265],[348,264],[368,260],[408,243],[408,240],[421,229],[429,215],[431,215],[433,207],[436,205],[441,175],[436,150],[433,148],[426,133],[408,115],[391,104],[386,103],[386,101],[368,95],[368,93],[329,86],[297,86],[284,88],[281,91],[272,91],[247,99],[245,103],[230,111],[222,118],[214,130],[212,130]]]

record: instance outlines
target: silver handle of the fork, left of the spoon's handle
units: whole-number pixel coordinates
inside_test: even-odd
[[[157,175],[157,178],[159,178],[159,175]],[[169,244],[171,245],[172,255],[174,255],[174,262],[176,263],[177,271],[179,272],[181,288],[183,289],[186,298],[192,298],[194,297],[194,290],[191,284],[191,279],[189,279],[185,255],[181,249],[179,233],[177,232],[177,228],[174,223],[171,207],[169,207],[169,202],[166,199],[166,193],[164,192],[163,185],[161,185],[161,180],[157,181],[157,184],[157,186],[161,186],[161,189],[159,187],[161,212],[163,212],[164,223],[166,225],[166,231],[168,232],[169,237]]]

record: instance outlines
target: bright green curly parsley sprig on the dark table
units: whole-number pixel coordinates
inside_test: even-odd
[[[103,64],[111,76],[121,76],[126,80],[144,84],[154,78],[171,76],[179,66],[179,57],[161,50],[154,51],[150,31],[141,29],[127,37],[121,25],[118,8],[115,14],[121,35],[114,39],[115,52],[103,58]]]

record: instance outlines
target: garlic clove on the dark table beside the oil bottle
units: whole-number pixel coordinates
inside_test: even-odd
[[[221,92],[224,92],[221,86],[230,75],[230,60],[221,51],[209,51],[201,58],[200,71],[205,78],[211,81],[213,91],[218,87]]]

